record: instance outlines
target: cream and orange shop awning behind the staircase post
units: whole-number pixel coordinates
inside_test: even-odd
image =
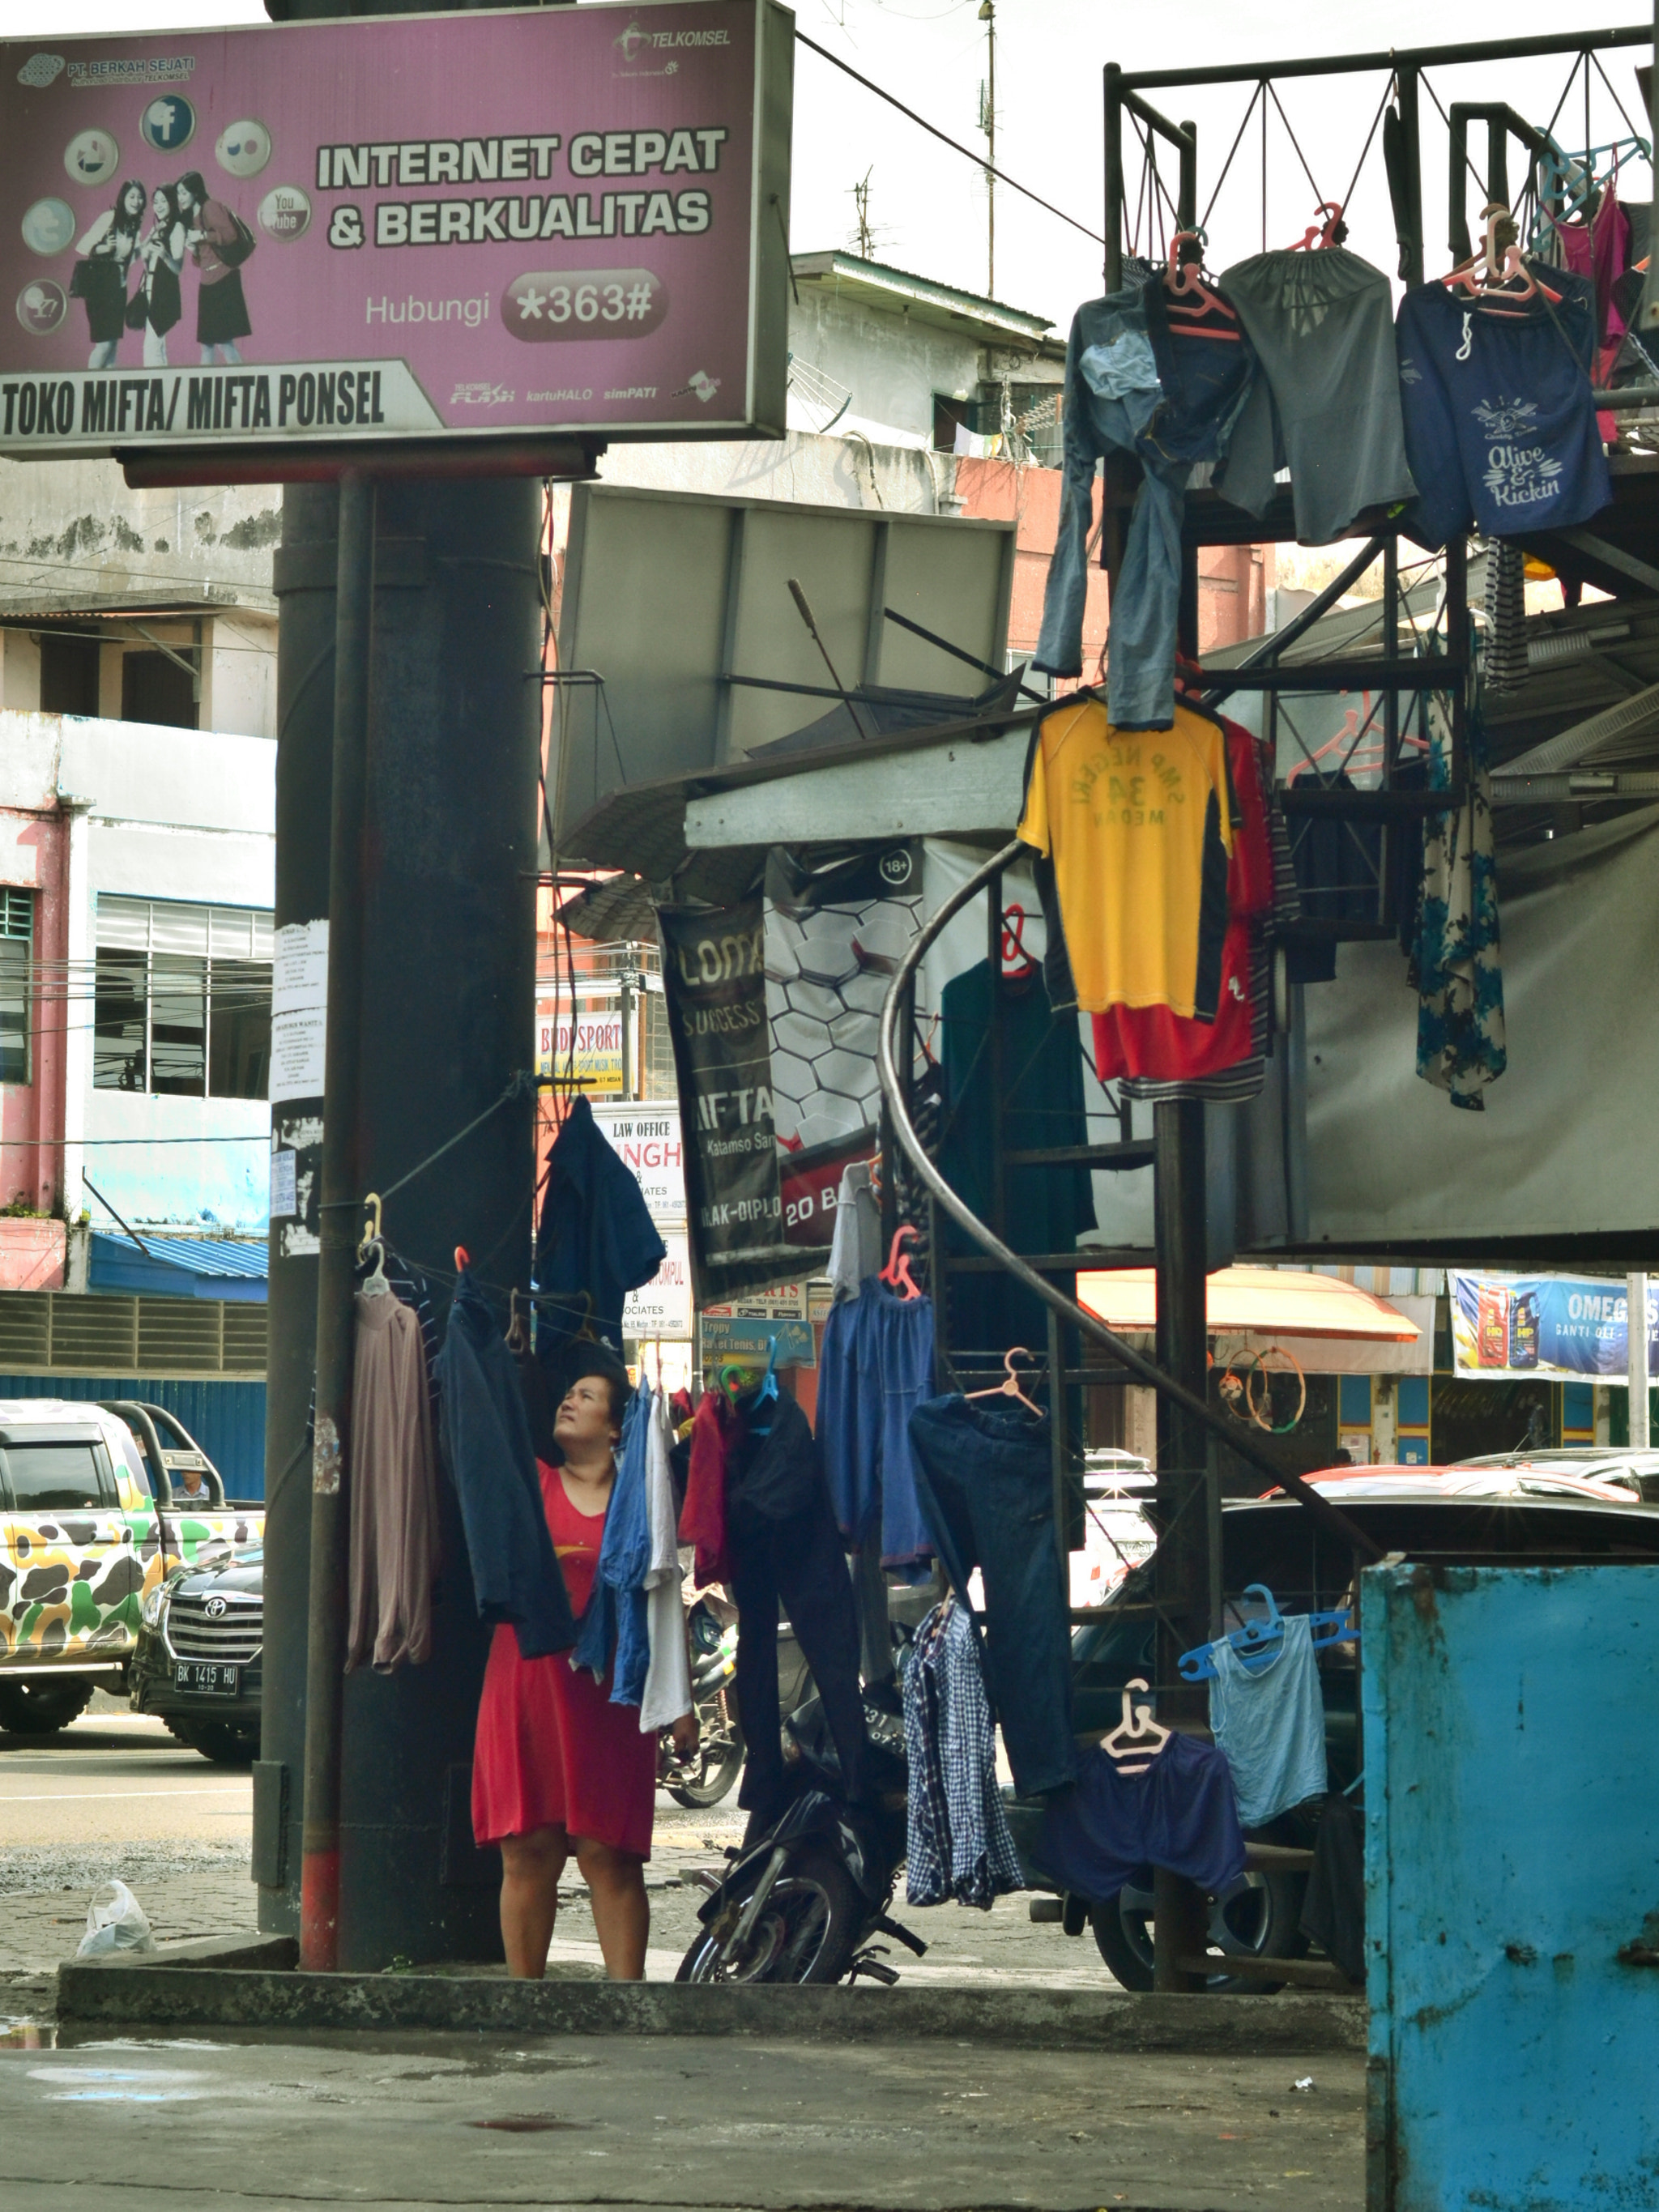
[[[1119,1329],[1137,1349],[1152,1349],[1157,1327],[1157,1283],[1150,1267],[1113,1267],[1077,1276],[1077,1303]],[[1221,1267],[1210,1276],[1206,1323],[1217,1356],[1265,1352],[1276,1345],[1294,1354],[1310,1374],[1427,1374],[1431,1343],[1431,1298],[1409,1303],[1422,1323],[1329,1274],[1298,1274],[1290,1267]]]

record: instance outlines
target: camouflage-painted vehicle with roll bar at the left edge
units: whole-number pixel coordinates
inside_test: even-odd
[[[201,1451],[159,1444],[155,1411],[0,1398],[0,1728],[64,1728],[95,1688],[124,1692],[146,1590],[263,1537]],[[179,1467],[201,1471],[199,1511]]]

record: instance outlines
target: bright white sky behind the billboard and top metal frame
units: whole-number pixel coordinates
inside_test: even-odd
[[[854,69],[887,86],[938,128],[980,146],[978,113],[984,77],[980,0],[796,0],[799,29]],[[1367,53],[1387,46],[1444,44],[1451,40],[1528,38],[1562,31],[1577,11],[1584,20],[1652,22],[1630,0],[1509,0],[1493,13],[1473,0],[1349,0],[1340,15],[1310,9],[1307,0],[1164,0],[1164,4],[1106,7],[1104,0],[1000,0],[998,4],[998,168],[1066,208],[1093,230],[1102,228],[1102,64],[1179,69],[1192,64],[1287,60],[1340,46]],[[199,29],[223,22],[263,22],[259,0],[0,0],[0,35],[29,38],[95,31]],[[1340,31],[1334,29],[1340,24]],[[1604,69],[1641,128],[1635,64],[1648,46],[1601,58]],[[1515,62],[1498,69],[1440,71],[1442,104],[1451,100],[1509,100],[1533,122],[1548,122],[1566,84],[1566,58]],[[1383,75],[1301,80],[1281,88],[1290,122],[1303,144],[1323,197],[1340,197],[1358,161],[1365,133],[1383,97]],[[1199,208],[1210,197],[1232,144],[1250,88],[1148,95],[1172,119],[1199,124]],[[794,217],[796,250],[849,246],[854,234],[852,186],[869,177],[869,212],[878,259],[945,283],[984,290],[984,179],[978,168],[916,131],[894,108],[796,49],[794,86]],[[1431,102],[1425,117],[1425,232],[1429,270],[1449,268],[1447,148]],[[1624,135],[1610,93],[1593,77],[1590,135]],[[1584,142],[1584,95],[1575,88],[1557,137],[1568,148]],[[1511,179],[1520,164],[1511,150]],[[1471,153],[1484,161],[1484,128]],[[1135,192],[1139,155],[1126,146],[1128,188]],[[1170,190],[1175,173],[1170,170]],[[1630,173],[1626,197],[1648,199],[1646,164]],[[1290,246],[1312,210],[1307,186],[1285,128],[1272,117],[1267,137],[1267,243]],[[1471,217],[1478,195],[1471,186]],[[1228,179],[1228,195],[1212,219],[1212,265],[1254,252],[1263,243],[1261,135],[1252,117]],[[1349,243],[1394,274],[1394,226],[1383,184],[1380,139],[1360,177],[1352,206]],[[1082,299],[1099,292],[1099,246],[1006,188],[998,188],[998,296],[1046,314],[1064,334]]]

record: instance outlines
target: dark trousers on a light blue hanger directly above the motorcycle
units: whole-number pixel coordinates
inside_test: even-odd
[[[770,1422],[761,1433],[761,1422]],[[807,1416],[779,1396],[741,1409],[730,1453],[726,1542],[737,1599],[737,1710],[748,1759],[739,1805],[770,1820],[783,1805],[779,1604],[805,1652],[847,1796],[865,1787],[858,1615],[823,1462]]]

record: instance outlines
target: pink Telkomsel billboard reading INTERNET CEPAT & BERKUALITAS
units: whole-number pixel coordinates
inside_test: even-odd
[[[781,431],[792,40],[657,0],[0,42],[0,451]]]

